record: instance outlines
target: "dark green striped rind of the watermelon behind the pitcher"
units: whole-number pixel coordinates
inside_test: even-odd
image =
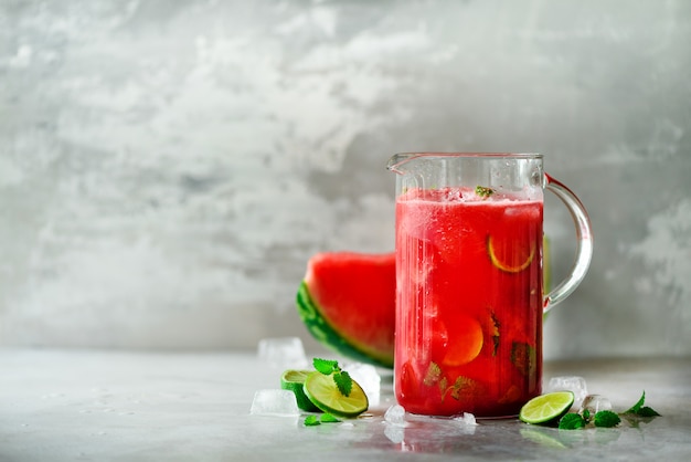
[[[355,345],[344,339],[321,315],[319,308],[309,295],[307,283],[302,281],[297,294],[297,308],[302,323],[309,333],[319,343],[330,347],[337,353],[355,359],[360,363],[368,363],[384,368],[393,368],[393,358],[381,357],[368,354]]]

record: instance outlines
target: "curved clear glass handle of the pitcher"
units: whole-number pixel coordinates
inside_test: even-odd
[[[544,174],[545,189],[554,192],[568,209],[576,227],[576,259],[571,269],[571,273],[559,285],[556,285],[543,300],[543,312],[549,312],[554,305],[561,303],[585,277],[591,260],[593,258],[593,228],[588,213],[583,207],[581,200],[571,189],[562,182],[555,180],[548,174]]]

